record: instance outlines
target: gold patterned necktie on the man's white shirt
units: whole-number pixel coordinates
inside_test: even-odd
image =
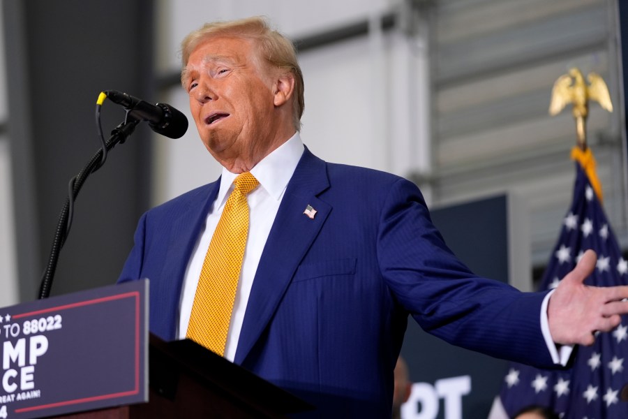
[[[198,280],[186,337],[223,355],[235,300],[246,236],[246,195],[259,184],[250,172],[238,175],[225,203]]]

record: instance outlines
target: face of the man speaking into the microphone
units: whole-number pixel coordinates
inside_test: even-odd
[[[205,147],[228,170],[250,170],[292,135],[278,112],[280,78],[246,39],[209,38],[190,54],[190,110]]]

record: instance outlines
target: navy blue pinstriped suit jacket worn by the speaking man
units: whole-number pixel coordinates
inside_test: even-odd
[[[163,339],[175,338],[181,282],[218,187],[160,205],[137,227],[120,280],[150,279],[150,330]],[[408,180],[306,149],[264,247],[234,362],[322,418],[386,417],[409,314],[451,344],[548,366],[543,297],[470,272]]]

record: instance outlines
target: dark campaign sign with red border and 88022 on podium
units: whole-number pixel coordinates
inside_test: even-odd
[[[148,401],[148,280],[0,309],[0,419]]]

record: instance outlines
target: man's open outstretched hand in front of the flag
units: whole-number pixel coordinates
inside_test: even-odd
[[[578,265],[560,281],[551,295],[547,317],[556,344],[592,345],[594,333],[608,332],[628,313],[628,286],[587,286],[583,281],[595,269],[595,251],[584,253]]]

